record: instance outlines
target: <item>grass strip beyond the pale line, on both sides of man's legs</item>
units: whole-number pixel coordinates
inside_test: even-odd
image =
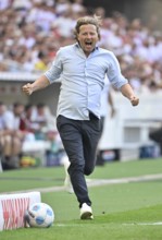
[[[110,163],[104,167],[97,167],[90,176],[92,179],[114,179],[124,177],[136,177],[141,175],[161,173],[162,160],[134,160],[126,163]],[[24,168],[0,173],[0,193],[8,191],[27,190],[30,188],[46,188],[62,185],[64,169],[62,167],[51,168]],[[14,181],[13,181],[14,180]]]

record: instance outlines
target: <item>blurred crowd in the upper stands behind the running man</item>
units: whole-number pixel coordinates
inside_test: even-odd
[[[112,50],[137,92],[162,87],[162,33],[150,19],[128,21],[120,13],[102,17],[100,46]],[[0,0],[0,71],[42,72],[61,46],[74,43],[76,19],[89,14],[83,0]]]

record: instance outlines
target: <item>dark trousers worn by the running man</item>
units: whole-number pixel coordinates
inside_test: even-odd
[[[91,205],[84,175],[90,175],[96,165],[97,146],[100,139],[100,120],[89,115],[90,120],[57,118],[57,127],[70,159],[68,173],[79,202]]]

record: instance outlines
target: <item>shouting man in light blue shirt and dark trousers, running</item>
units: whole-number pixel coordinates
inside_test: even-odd
[[[61,80],[57,127],[71,163],[68,173],[79,203],[80,219],[94,218],[85,175],[90,175],[96,165],[104,75],[133,106],[139,101],[121,74],[114,55],[97,47],[99,28],[100,20],[97,16],[78,19],[75,26],[77,43],[61,48],[50,70],[34,83],[23,86],[23,91],[30,95],[57,79]]]

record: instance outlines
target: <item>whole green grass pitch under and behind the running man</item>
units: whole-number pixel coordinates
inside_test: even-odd
[[[89,188],[94,220],[79,220],[76,197],[67,192],[42,192],[42,202],[55,214],[49,229],[16,229],[0,232],[0,240],[162,240],[162,159],[110,163],[97,167],[90,179],[138,181]],[[140,176],[154,176],[151,180]],[[0,173],[0,193],[62,187],[63,167],[21,169]]]

